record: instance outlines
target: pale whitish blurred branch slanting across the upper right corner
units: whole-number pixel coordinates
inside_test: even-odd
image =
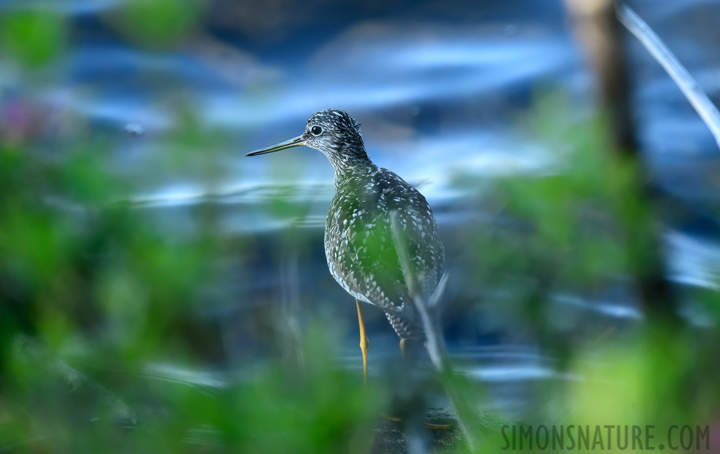
[[[693,105],[693,108],[708,126],[710,132],[713,133],[715,142],[720,147],[720,112],[718,112],[715,104],[710,101],[708,95],[700,88],[698,82],[693,76],[690,76],[688,70],[670,52],[670,49],[660,40],[660,37],[629,6],[623,2],[618,2],[617,14],[620,22],[642,42],[650,55],[657,60],[657,63],[662,65],[662,68],[665,68],[667,74],[678,84],[685,98]]]

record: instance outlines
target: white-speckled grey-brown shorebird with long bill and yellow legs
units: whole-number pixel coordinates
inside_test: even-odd
[[[438,224],[420,191],[372,162],[360,123],[343,110],[315,112],[301,135],[247,156],[302,145],[319,150],[333,166],[335,195],[325,222],[325,256],[333,278],[355,298],[367,383],[369,340],[362,303],[385,312],[405,358],[408,340],[425,336],[416,297],[432,294],[443,274]]]

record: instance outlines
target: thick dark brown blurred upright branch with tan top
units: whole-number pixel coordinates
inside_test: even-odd
[[[621,204],[624,205],[621,217],[630,271],[646,313],[674,323],[677,308],[667,281],[651,185],[634,135],[622,28],[616,18],[615,5],[613,0],[565,0],[565,4],[597,78],[600,107],[608,116],[609,133],[615,146],[608,152],[619,153],[619,157],[629,160],[636,168],[635,181],[626,181],[627,187],[621,195],[629,201]]]

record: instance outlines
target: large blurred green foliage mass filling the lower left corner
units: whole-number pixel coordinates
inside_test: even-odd
[[[338,368],[318,327],[297,346],[302,363],[271,358],[219,385],[148,372],[158,361],[208,367],[212,346],[188,325],[222,239],[208,224],[172,240],[117,202],[127,184],[94,145],[62,160],[0,146],[0,445],[364,452],[386,399]]]

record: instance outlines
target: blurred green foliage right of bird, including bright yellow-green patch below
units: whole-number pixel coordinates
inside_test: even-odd
[[[516,332],[552,352],[554,368],[575,377],[539,387],[531,422],[648,424],[660,434],[673,424],[704,427],[720,408],[711,366],[720,359],[719,295],[702,289],[674,296],[680,307],[699,302],[709,317],[701,327],[648,317],[656,301],[643,301],[639,279],[647,250],[658,247],[650,239],[660,220],[639,163],[613,153],[601,117],[567,117],[566,102],[562,94],[540,96],[525,122],[528,134],[554,150],[556,171],[499,178],[490,192],[477,185],[478,199],[498,214],[469,235],[463,266],[487,292],[486,314],[512,320]],[[613,288],[625,293],[609,293]],[[559,304],[559,295],[577,295],[588,309],[631,298],[638,312],[608,322]]]

